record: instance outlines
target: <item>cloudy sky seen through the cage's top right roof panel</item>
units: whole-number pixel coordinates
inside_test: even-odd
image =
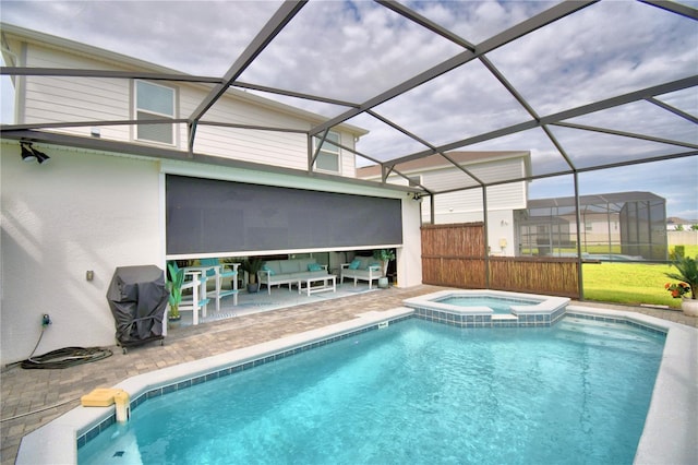
[[[600,2],[491,58],[544,116],[695,74],[696,48],[685,43],[697,38],[695,22],[676,14]]]

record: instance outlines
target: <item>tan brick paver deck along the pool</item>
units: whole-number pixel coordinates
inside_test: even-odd
[[[402,307],[405,299],[443,289],[428,285],[392,287],[197,326],[182,326],[170,330],[163,346],[154,342],[131,347],[125,355],[121,348],[112,346],[113,356],[109,358],[62,370],[3,367],[0,372],[1,463],[13,464],[25,434],[80,405],[80,397],[95,388],[109,388],[136,374],[351,320],[358,313]],[[697,318],[675,310],[587,301],[583,306],[634,311],[698,327]]]

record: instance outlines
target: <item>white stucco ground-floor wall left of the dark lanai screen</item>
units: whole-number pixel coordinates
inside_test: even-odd
[[[106,291],[117,266],[159,264],[159,164],[43,147],[23,163],[2,144],[2,363],[67,346],[115,344]],[[85,278],[94,271],[94,279]]]

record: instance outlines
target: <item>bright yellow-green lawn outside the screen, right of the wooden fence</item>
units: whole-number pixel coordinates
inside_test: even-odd
[[[685,246],[686,255],[698,255],[697,246]],[[664,273],[676,269],[665,264],[585,263],[582,265],[585,299],[619,303],[650,303],[681,307],[664,284],[672,282]]]

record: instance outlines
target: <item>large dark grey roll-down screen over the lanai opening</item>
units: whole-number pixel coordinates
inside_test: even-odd
[[[167,254],[402,243],[398,199],[167,176]]]

